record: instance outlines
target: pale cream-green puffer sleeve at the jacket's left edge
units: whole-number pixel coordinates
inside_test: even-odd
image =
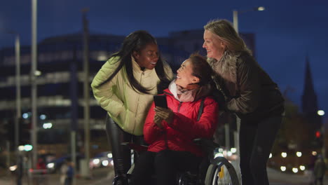
[[[93,95],[95,99],[100,104],[102,109],[105,109],[111,116],[118,116],[121,111],[124,110],[123,102],[116,96],[118,92],[116,79],[117,75],[114,76],[111,81],[104,83],[100,86],[100,84],[109,78],[109,76],[114,72],[116,67],[118,67],[118,60],[116,58],[109,59],[100,71],[97,72],[95,78],[93,78],[93,82],[91,83],[91,88],[93,88]]]

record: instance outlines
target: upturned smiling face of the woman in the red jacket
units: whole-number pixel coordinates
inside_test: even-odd
[[[177,70],[177,79],[175,83],[185,89],[193,89],[199,82],[199,78],[193,76],[193,66],[191,60],[185,60]],[[196,87],[195,87],[196,88]]]

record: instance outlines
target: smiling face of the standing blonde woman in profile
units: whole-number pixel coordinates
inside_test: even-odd
[[[219,36],[205,29],[203,48],[206,49],[207,57],[220,60],[226,49],[224,41]]]

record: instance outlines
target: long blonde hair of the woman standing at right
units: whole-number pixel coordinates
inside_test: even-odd
[[[245,42],[240,38],[235,29],[228,20],[210,20],[207,25],[204,26],[205,30],[212,32],[220,37],[224,43],[226,43],[226,49],[232,52],[247,51],[251,53],[247,48]]]

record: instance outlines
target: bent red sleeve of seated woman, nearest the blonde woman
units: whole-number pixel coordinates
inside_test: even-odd
[[[187,135],[193,135],[194,138],[211,138],[217,128],[218,114],[219,107],[217,102],[212,99],[205,100],[203,114],[200,116],[199,121],[175,113],[172,123],[168,126],[175,130],[179,130],[179,132],[184,132]]]

